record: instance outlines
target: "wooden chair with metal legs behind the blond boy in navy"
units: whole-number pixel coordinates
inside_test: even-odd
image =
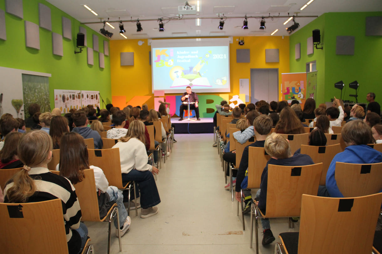
[[[267,211],[266,214],[262,214],[255,204],[251,206],[252,228],[249,248],[252,248],[253,220],[255,220],[256,253],[258,254],[257,219],[299,217],[301,195],[317,195],[321,170],[322,163],[308,166],[268,165]]]

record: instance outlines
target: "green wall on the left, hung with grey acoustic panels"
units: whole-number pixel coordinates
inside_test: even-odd
[[[25,46],[24,20],[39,24],[38,3],[51,10],[52,32],[62,35],[62,16],[71,20],[72,40],[63,38],[63,56],[52,53],[52,32],[39,28],[40,50]],[[0,0],[5,11],[5,0]],[[99,68],[98,52],[94,51],[94,65],[87,64],[86,47],[74,54],[80,22],[44,0],[23,1],[24,19],[5,13],[6,40],[0,40],[0,66],[52,74],[49,78],[50,106],[54,108],[53,89],[99,90],[105,103],[111,102],[110,57],[105,56],[105,68]],[[87,47],[92,47],[92,35],[99,37],[99,52],[104,53],[102,35],[87,26]],[[77,50],[78,51],[78,50]],[[102,102],[101,102],[102,106]]]

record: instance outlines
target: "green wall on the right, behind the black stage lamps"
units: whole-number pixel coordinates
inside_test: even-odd
[[[317,63],[317,103],[340,97],[341,91],[334,88],[334,83],[343,80],[344,100],[354,100],[349,94],[355,90],[349,83],[359,83],[358,102],[366,103],[369,92],[377,94],[376,101],[382,98],[380,80],[382,78],[382,36],[366,36],[365,21],[367,16],[382,16],[382,12],[368,13],[325,13],[307,26],[298,29],[290,36],[290,71],[305,71],[306,63]],[[306,55],[306,39],[312,36],[312,30],[320,29],[321,44],[324,49],[314,49]],[[336,37],[354,36],[354,55],[336,55]],[[295,44],[301,43],[301,58],[295,60]],[[382,100],[379,100],[382,102]]]

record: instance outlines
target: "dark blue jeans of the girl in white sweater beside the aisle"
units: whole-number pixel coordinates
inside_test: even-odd
[[[131,170],[128,174],[122,174],[122,182],[135,181],[141,192],[141,207],[143,209],[156,206],[160,203],[157,185],[154,175],[150,171]]]

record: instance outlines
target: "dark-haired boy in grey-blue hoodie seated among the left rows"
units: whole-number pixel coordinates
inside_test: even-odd
[[[84,111],[79,111],[72,116],[75,127],[72,132],[76,132],[83,138],[93,138],[94,149],[102,149],[104,143],[98,132],[87,127],[87,117]]]

